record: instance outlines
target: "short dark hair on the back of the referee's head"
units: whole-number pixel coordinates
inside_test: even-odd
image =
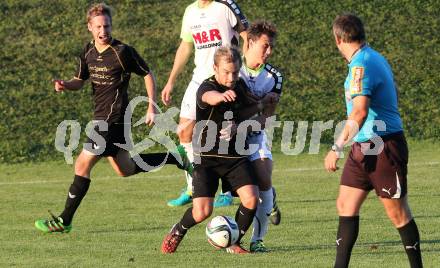
[[[365,42],[364,25],[359,17],[353,14],[342,14],[333,21],[333,32],[346,43]]]

